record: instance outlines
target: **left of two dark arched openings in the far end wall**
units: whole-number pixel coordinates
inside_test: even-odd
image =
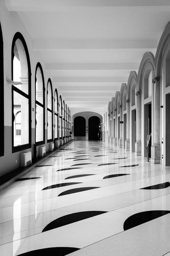
[[[86,139],[86,119],[83,116],[74,118],[74,140]]]

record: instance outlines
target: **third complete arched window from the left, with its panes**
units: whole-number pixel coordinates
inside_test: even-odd
[[[51,79],[47,84],[47,142],[53,141],[53,90]]]

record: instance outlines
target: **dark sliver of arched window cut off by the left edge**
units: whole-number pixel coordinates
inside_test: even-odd
[[[0,156],[4,155],[3,38],[0,24]]]

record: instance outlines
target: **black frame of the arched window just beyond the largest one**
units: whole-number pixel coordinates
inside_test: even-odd
[[[36,73],[37,73],[37,68],[40,69],[41,75],[42,75],[42,80],[43,80],[43,105],[42,105],[42,103],[38,102],[35,98],[35,123],[36,123],[36,104],[43,108],[43,123],[44,123],[44,126],[43,126],[43,141],[36,142],[36,126],[35,126],[35,145],[39,146],[39,145],[45,144],[45,83],[44,83],[43,68],[41,67],[40,62],[38,62],[37,65],[36,65],[36,69],[35,69],[35,97],[36,97],[36,81],[37,81]]]

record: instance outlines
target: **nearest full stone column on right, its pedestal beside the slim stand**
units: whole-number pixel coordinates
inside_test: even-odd
[[[160,77],[153,79],[154,88],[154,143],[151,146],[151,162],[160,163]]]

